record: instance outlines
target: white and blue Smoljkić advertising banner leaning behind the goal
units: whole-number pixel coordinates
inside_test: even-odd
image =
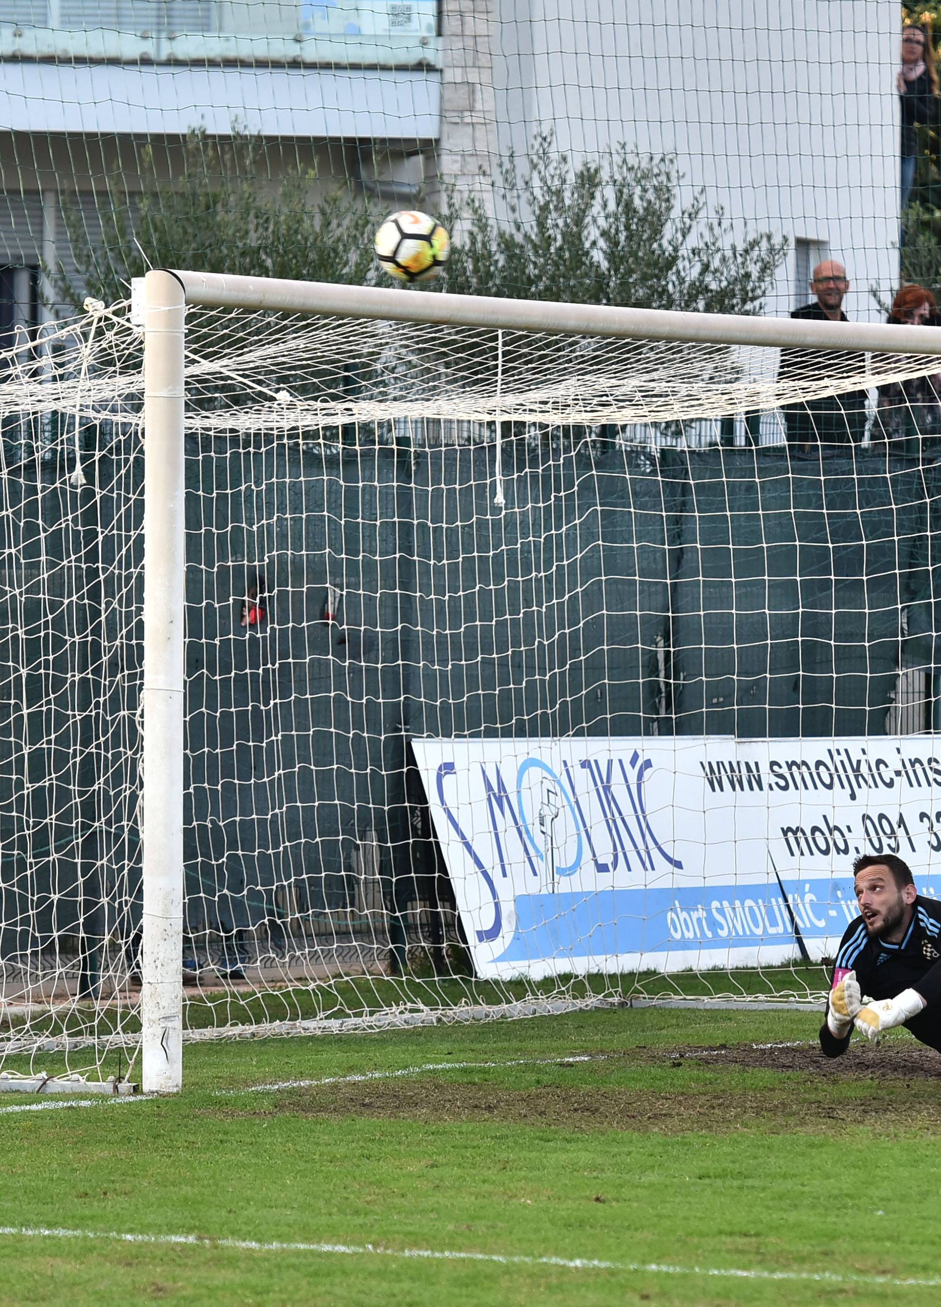
[[[931,736],[414,740],[478,975],[833,955],[852,863],[941,884]]]

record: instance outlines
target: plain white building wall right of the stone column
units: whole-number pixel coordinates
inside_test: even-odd
[[[550,124],[578,157],[619,141],[676,154],[738,231],[784,235],[768,297],[806,303],[822,257],[842,259],[846,308],[880,316],[899,265],[902,10],[883,0],[494,0],[498,148]]]

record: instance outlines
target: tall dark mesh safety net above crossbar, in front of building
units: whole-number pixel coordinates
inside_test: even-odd
[[[361,282],[416,207],[472,238],[460,293],[783,314],[835,257],[876,315],[900,252],[938,289],[936,115],[912,86],[900,142],[897,82],[933,10],[861,4],[848,50],[813,7],[711,3],[677,76],[653,0],[5,0],[0,331],[149,263]]]

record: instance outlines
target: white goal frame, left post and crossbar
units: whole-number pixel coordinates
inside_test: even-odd
[[[188,307],[724,346],[941,356],[941,329],[422,294],[184,271],[144,286],[142,1087],[183,1057],[184,401]],[[823,386],[826,389],[826,383]]]

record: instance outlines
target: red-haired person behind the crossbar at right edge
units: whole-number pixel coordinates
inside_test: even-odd
[[[903,286],[893,301],[890,323],[932,325],[937,303],[924,286]],[[941,372],[880,386],[873,438],[891,440],[895,454],[936,455],[941,451]]]

